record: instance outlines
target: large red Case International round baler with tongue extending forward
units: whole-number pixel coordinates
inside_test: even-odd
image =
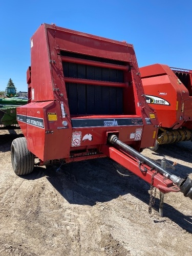
[[[17,108],[25,137],[11,145],[17,175],[32,172],[34,157],[45,165],[108,156],[162,193],[192,199],[188,177],[139,153],[154,145],[158,122],[132,45],[43,24],[31,38],[27,82],[30,103]]]

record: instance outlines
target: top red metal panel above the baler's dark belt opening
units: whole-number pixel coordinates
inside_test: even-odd
[[[120,61],[130,61],[132,45],[103,37],[79,33],[77,31],[48,27],[49,41],[55,36],[56,44],[60,50],[104,57]],[[57,31],[55,33],[55,31]],[[52,47],[51,47],[52,48]]]

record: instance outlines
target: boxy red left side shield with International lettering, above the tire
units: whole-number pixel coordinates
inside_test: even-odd
[[[27,138],[29,151],[42,161],[69,157],[71,122],[66,118],[68,128],[63,127],[60,105],[55,101],[46,101],[30,103],[25,107],[18,108],[17,119]],[[49,120],[49,113],[56,114],[56,118]]]

